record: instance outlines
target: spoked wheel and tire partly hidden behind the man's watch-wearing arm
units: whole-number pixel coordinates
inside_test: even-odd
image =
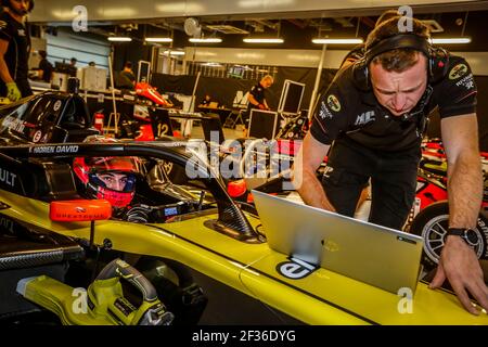
[[[424,208],[412,221],[410,232],[422,236],[424,241],[422,265],[425,271],[433,270],[439,264],[446,231],[449,223],[449,204],[447,201],[434,203]],[[478,244],[474,247],[478,259],[487,258],[488,222],[484,214],[479,214],[476,228]]]

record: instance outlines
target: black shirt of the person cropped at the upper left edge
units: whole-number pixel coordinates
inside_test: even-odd
[[[0,14],[0,39],[9,41],[4,60],[10,75],[15,81],[27,80],[30,36],[26,26],[3,12]]]

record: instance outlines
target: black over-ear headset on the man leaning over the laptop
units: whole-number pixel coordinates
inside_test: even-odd
[[[387,51],[411,49],[425,54],[428,60],[428,81],[435,83],[442,79],[449,69],[449,53],[433,47],[426,38],[415,34],[401,33],[389,36],[365,48],[364,56],[352,65],[352,76],[356,85],[363,91],[371,89],[369,65],[371,61]]]

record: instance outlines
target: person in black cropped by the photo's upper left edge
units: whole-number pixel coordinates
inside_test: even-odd
[[[0,94],[17,101],[33,94],[28,82],[30,36],[25,25],[34,0],[2,0],[0,14]]]

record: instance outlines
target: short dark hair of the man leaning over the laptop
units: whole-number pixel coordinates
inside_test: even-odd
[[[373,48],[380,41],[393,37],[395,35],[402,34],[398,25],[400,18],[401,16],[399,15],[394,16],[380,24],[377,27],[374,28],[373,31],[370,33],[370,35],[368,35],[365,41],[367,53],[368,50]],[[424,25],[421,21],[415,18],[412,18],[412,30],[410,31],[410,34],[414,34],[421,38],[424,38],[425,40],[429,39],[428,27]],[[393,70],[401,73],[415,65],[418,61],[419,61],[419,51],[415,51],[410,48],[401,48],[381,53],[375,57],[373,57],[371,63],[373,64],[381,63],[382,67],[387,72]]]

